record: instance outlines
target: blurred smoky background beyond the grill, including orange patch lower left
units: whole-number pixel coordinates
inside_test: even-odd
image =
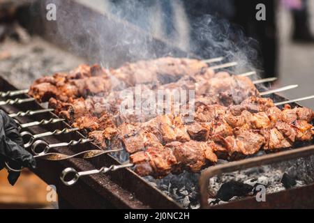
[[[106,19],[91,19],[73,2]],[[57,6],[56,21],[45,21],[47,3]],[[256,20],[257,3],[266,6],[266,21]],[[27,89],[40,76],[84,62],[116,67],[188,52],[186,56],[204,59],[227,56],[239,61],[235,72],[255,69],[262,77],[278,77],[274,86],[299,84],[282,93],[299,98],[314,93],[313,33],[311,0],[0,0],[0,75]],[[301,105],[314,109],[314,100]],[[46,186],[25,172],[11,187],[2,170],[0,208],[57,208],[47,201]]]

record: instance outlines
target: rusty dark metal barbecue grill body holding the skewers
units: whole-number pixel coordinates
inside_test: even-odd
[[[73,6],[82,7],[75,3],[73,3]],[[91,13],[88,8],[84,8],[84,10]],[[95,17],[100,16],[96,12],[91,13],[91,15]],[[54,40],[56,39],[57,38],[54,38]],[[160,42],[160,40],[153,43],[154,44],[152,45],[158,45],[158,47],[155,46],[158,49],[160,49],[160,44],[165,45],[165,43]],[[178,52],[177,56],[188,55],[181,51]],[[160,55],[163,53],[164,52],[161,52]],[[122,60],[119,62],[122,62]],[[258,88],[264,90],[262,85],[258,85]],[[3,92],[17,90],[15,86],[6,82],[6,80],[2,78],[0,78],[0,89]],[[1,100],[15,100],[15,98],[29,99],[29,102],[21,104],[8,103],[8,105],[3,105],[1,108],[8,114],[17,114],[19,112],[22,114],[21,112],[27,113],[29,110],[38,111],[47,109],[46,107],[43,107],[43,105],[38,104],[38,102],[31,100],[28,95],[1,95]],[[287,100],[287,98],[283,98],[276,93],[272,94],[271,98],[274,102]],[[290,105],[292,105],[292,107],[297,106],[295,103],[291,103]],[[45,111],[46,112],[43,113],[38,112],[37,114],[32,114],[31,116],[15,116],[15,119],[17,119],[17,121],[22,125],[25,123],[32,123],[34,121],[48,121],[46,125],[33,125],[24,128],[24,130],[27,130],[32,135],[43,134],[43,132],[54,132],[55,130],[73,129],[65,121],[59,120],[59,117],[52,113],[52,111]],[[59,121],[49,122],[50,120],[56,119]],[[47,144],[60,144],[65,141],[68,142],[70,140],[74,140],[78,142],[85,139],[84,143],[78,143],[72,147],[63,145],[50,148],[49,152],[54,153],[74,155],[76,153],[89,150],[101,150],[99,146],[93,144],[93,142],[89,141],[86,137],[86,132],[73,130],[69,131],[67,134],[47,135],[44,140]],[[216,206],[210,206],[208,203],[208,187],[210,178],[232,171],[260,167],[264,164],[288,162],[289,160],[292,160],[293,162],[293,160],[299,158],[307,159],[308,157],[314,155],[313,142],[313,140],[302,142],[289,151],[282,151],[259,157],[250,157],[246,160],[218,164],[214,167],[204,169],[200,176],[198,174],[193,176],[200,181],[200,194],[197,196],[197,200],[201,201],[202,208],[313,208],[313,182],[308,185],[304,185],[303,187],[267,194],[267,200],[261,203],[257,202],[255,197],[247,197]],[[123,163],[120,162],[119,157],[114,156],[114,153],[109,153],[88,160],[76,157],[61,160],[59,162],[38,160],[38,168],[33,171],[48,184],[56,185],[57,192],[59,194],[60,208],[184,208],[184,206],[182,206],[178,201],[165,194],[165,192],[163,192],[159,187],[156,187],[156,185],[149,181],[148,178],[143,178],[137,175],[130,168],[110,171],[106,174],[84,176],[71,187],[64,185],[59,178],[61,171],[67,167],[73,167],[77,171],[86,171],[121,164]],[[195,178],[193,180],[195,180]],[[197,183],[195,183],[195,190],[197,190]]]

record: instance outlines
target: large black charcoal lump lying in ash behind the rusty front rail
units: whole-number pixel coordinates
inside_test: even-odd
[[[245,196],[253,190],[253,186],[238,181],[230,181],[221,185],[217,192],[216,199],[230,201],[235,196]]]

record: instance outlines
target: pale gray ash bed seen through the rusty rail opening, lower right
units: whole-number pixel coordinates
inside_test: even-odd
[[[266,187],[266,193],[271,194],[286,190],[286,185],[282,182],[283,179],[289,176],[290,180],[295,184],[290,184],[290,187],[301,187],[314,182],[314,155],[306,158],[299,158],[297,160],[285,161],[278,164],[265,165],[261,167],[254,167],[241,171],[234,171],[232,173],[215,176],[209,181],[209,192],[211,205],[223,204],[225,201],[216,201],[216,195],[222,185],[231,181],[245,183],[247,185],[255,186],[262,184]],[[252,196],[253,192],[248,196]],[[241,199],[243,197],[232,197],[230,201]]]

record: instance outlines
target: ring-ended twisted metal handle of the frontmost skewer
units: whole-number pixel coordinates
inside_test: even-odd
[[[81,176],[87,176],[91,174],[105,174],[109,171],[117,171],[118,169],[124,169],[128,167],[133,167],[133,164],[126,163],[126,164],[120,164],[120,165],[111,165],[110,167],[101,167],[100,169],[92,169],[89,171],[80,171],[80,172],[76,171],[75,169],[71,167],[68,167],[62,171],[60,179],[65,185],[70,186],[70,185],[74,185]],[[70,180],[66,180],[66,176],[68,174],[74,174],[73,178]]]

